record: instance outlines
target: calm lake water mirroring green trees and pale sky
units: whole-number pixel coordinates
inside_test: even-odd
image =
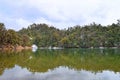
[[[120,80],[120,50],[2,51],[0,80]]]

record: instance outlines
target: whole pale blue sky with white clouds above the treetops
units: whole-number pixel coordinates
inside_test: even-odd
[[[20,30],[36,23],[59,29],[116,23],[120,0],[0,0],[0,22],[7,29]]]

